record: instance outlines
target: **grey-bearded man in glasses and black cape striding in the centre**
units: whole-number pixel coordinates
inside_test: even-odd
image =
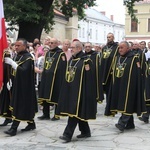
[[[92,60],[82,51],[79,41],[71,44],[72,58],[69,61],[65,80],[60,91],[58,115],[67,115],[68,124],[60,139],[70,142],[79,125],[77,138],[91,137],[89,119],[96,119],[97,100]]]

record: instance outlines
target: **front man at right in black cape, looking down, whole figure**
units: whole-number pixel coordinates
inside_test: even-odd
[[[130,129],[135,128],[133,113],[141,116],[146,112],[146,107],[139,58],[129,50],[129,44],[126,41],[119,44],[119,54],[114,61],[107,108],[110,108],[113,114],[122,113],[116,127],[124,131],[129,122],[130,125],[132,124]]]

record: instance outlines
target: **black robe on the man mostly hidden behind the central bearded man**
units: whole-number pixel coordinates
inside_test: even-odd
[[[94,87],[96,87],[96,99],[97,102],[101,103],[104,99],[104,94],[103,94],[103,86],[102,86],[102,73],[100,71],[100,58],[99,58],[99,54],[93,50],[91,50],[90,52],[85,52],[85,54],[87,56],[90,57],[90,59],[92,60],[92,64],[93,64],[93,71],[94,71],[94,81],[95,81],[95,85]]]

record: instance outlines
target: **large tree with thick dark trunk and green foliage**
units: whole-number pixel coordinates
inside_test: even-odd
[[[18,37],[24,37],[30,42],[34,38],[40,39],[43,29],[46,32],[52,29],[54,8],[62,11],[68,18],[73,16],[73,9],[75,9],[82,19],[84,8],[92,6],[95,6],[95,0],[4,0],[6,21],[12,27],[18,25]]]

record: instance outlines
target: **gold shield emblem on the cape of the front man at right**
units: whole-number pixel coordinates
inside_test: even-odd
[[[121,78],[124,74],[124,69],[125,69],[126,64],[117,64],[116,66],[116,71],[115,71],[115,76],[117,78]]]

